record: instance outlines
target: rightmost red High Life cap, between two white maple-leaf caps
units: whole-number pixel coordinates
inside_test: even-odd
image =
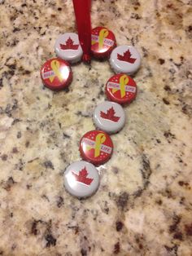
[[[116,74],[107,81],[106,95],[116,103],[129,104],[137,95],[136,82],[128,75]]]

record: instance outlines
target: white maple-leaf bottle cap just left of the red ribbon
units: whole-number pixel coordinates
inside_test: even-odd
[[[81,60],[83,51],[76,33],[63,33],[55,42],[55,53],[59,58],[76,63]]]

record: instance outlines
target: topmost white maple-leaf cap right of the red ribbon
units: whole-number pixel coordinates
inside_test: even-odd
[[[141,56],[133,46],[117,46],[110,56],[111,68],[116,73],[133,74],[141,65]]]

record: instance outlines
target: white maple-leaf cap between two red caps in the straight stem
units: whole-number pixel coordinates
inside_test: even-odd
[[[94,110],[94,124],[107,133],[116,133],[124,127],[124,109],[116,102],[104,101]]]

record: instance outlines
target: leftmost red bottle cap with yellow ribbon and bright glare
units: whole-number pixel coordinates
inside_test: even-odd
[[[51,90],[62,90],[72,82],[70,65],[59,58],[47,60],[41,67],[41,80]]]

